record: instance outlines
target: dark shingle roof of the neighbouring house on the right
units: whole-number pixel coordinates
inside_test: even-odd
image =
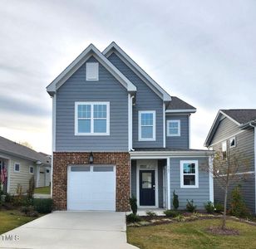
[[[221,110],[239,124],[245,124],[249,121],[256,120],[256,109],[230,109]]]

